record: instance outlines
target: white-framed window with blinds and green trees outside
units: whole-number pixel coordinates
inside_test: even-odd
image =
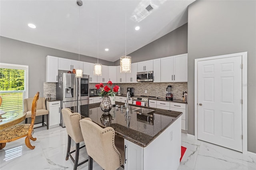
[[[23,99],[28,98],[28,66],[0,63],[1,110],[23,111]]]

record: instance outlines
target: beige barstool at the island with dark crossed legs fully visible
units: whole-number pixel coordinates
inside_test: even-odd
[[[76,170],[78,166],[88,162],[87,159],[78,164],[79,149],[84,148],[84,146],[79,147],[79,143],[84,141],[79,124],[81,115],[79,113],[72,113],[69,108],[62,109],[61,113],[68,133],[66,160],[68,160],[68,157],[70,156],[71,160],[74,162],[74,170]],[[76,142],[76,149],[70,152],[71,138]],[[75,159],[71,156],[73,152],[76,152]]]

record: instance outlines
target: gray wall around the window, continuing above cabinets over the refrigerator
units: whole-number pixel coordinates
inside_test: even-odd
[[[28,97],[33,97],[37,91],[43,96],[47,55],[78,60],[76,53],[0,37],[0,63],[28,65]],[[97,63],[97,58],[80,55],[80,61]],[[106,60],[99,59],[99,62],[103,65],[113,65],[113,62]]]

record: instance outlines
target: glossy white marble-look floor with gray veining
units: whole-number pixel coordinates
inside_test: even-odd
[[[72,170],[72,160],[65,160],[67,147],[66,128],[55,127],[46,130],[34,129],[36,146],[30,150],[24,143],[25,138],[9,142],[0,150],[0,170]],[[234,150],[216,146],[200,140],[194,140],[191,135],[182,133],[182,146],[187,150],[180,162],[179,170],[256,170],[256,154],[242,154]],[[87,158],[86,149],[80,150],[79,160]],[[88,169],[88,163],[78,167],[78,170]],[[93,170],[102,170],[94,162]],[[119,170],[123,170],[119,168]]]

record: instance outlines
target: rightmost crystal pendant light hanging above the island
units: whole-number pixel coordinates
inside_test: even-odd
[[[126,56],[126,13],[125,13],[125,55],[120,57],[120,73],[130,73],[132,57]]]

